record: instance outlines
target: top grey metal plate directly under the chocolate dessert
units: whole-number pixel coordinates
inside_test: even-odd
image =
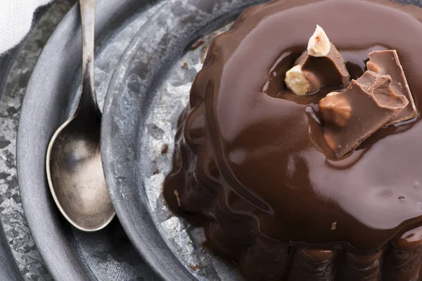
[[[182,65],[189,70],[193,66],[182,59],[195,60],[186,52],[195,39],[222,27],[245,8],[258,3],[259,0],[180,0],[169,3],[172,6],[170,10],[175,12],[158,11],[143,26],[128,46],[110,82],[101,130],[106,183],[129,239],[164,280],[243,280],[236,267],[230,267],[228,263],[202,251],[200,242],[191,239],[196,233],[187,233],[189,226],[172,216],[158,193],[171,163],[175,123],[186,105],[188,88],[194,77],[186,81],[186,77],[176,75],[177,70],[174,69]],[[153,30],[167,32],[161,34]],[[195,66],[193,68],[198,71],[200,67],[198,64]],[[181,78],[180,81],[177,78]],[[172,82],[184,87],[185,93],[174,94],[170,98],[163,95],[163,92],[167,93],[163,85]],[[165,123],[160,128],[160,124],[156,126],[154,120],[148,122],[147,119],[151,118],[151,112],[160,112],[163,107],[175,107],[175,110],[167,112],[168,118],[160,115],[155,119],[158,123]],[[165,135],[167,143],[148,138],[155,130],[159,135]],[[159,152],[162,145],[168,145],[170,150],[165,157],[157,157],[155,152]],[[155,184],[150,186],[151,181]],[[158,201],[159,206],[155,209]],[[177,235],[181,233],[175,239],[179,240],[180,249],[170,246],[174,241],[167,239],[172,230],[162,230],[162,225],[155,219],[155,214],[163,212],[163,209],[165,214],[160,216],[170,219],[162,223],[167,223],[167,226],[169,223],[178,224],[170,228],[177,228],[174,231]],[[195,248],[192,250],[195,251],[195,259],[186,258],[193,255],[184,249],[184,244],[186,247],[196,245],[191,247]]]

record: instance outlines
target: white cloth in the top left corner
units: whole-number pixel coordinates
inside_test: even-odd
[[[0,0],[0,55],[30,31],[34,11],[51,0]]]

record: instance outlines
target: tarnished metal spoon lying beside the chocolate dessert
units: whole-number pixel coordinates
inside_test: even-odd
[[[51,194],[63,216],[79,230],[110,223],[115,210],[101,164],[101,111],[94,89],[95,0],[79,0],[82,20],[82,87],[75,112],[54,133],[46,155]]]

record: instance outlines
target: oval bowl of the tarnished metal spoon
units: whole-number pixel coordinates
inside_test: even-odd
[[[100,230],[115,216],[101,165],[100,121],[76,115],[56,131],[47,152],[49,185],[58,209],[84,231]]]

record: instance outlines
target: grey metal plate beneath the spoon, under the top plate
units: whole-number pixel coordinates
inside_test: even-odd
[[[95,71],[100,104],[122,53],[163,2],[97,0]],[[39,263],[45,263],[54,280],[159,280],[117,218],[98,233],[82,233],[60,216],[49,193],[46,147],[75,105],[82,60],[80,34],[79,7],[75,5],[39,55],[22,107],[16,105],[20,109],[18,184],[27,226],[43,260]],[[39,275],[34,280],[51,277]]]

